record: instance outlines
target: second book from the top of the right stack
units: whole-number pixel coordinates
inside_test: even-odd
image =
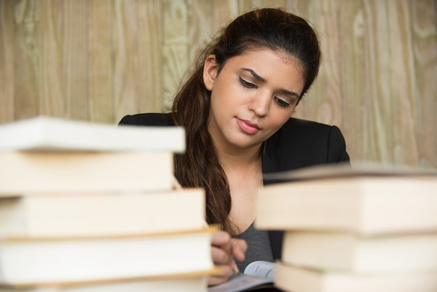
[[[437,233],[361,237],[286,231],[284,263],[345,272],[437,271]]]

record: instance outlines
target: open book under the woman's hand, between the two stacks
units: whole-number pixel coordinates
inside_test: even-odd
[[[208,292],[242,292],[272,288],[274,268],[275,263],[254,261],[247,265],[244,272],[234,273],[228,282],[210,286]]]

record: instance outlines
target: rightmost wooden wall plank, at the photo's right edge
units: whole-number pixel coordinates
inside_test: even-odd
[[[437,6],[436,1],[410,1],[412,75],[419,165],[437,169]]]

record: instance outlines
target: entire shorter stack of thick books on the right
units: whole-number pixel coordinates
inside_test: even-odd
[[[271,178],[255,226],[284,231],[279,289],[437,291],[437,173],[319,166]]]

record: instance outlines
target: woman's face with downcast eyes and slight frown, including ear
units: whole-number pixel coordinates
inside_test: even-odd
[[[208,129],[223,147],[260,147],[290,118],[304,88],[299,61],[269,49],[232,57],[217,72],[211,55],[203,71],[211,91]]]

